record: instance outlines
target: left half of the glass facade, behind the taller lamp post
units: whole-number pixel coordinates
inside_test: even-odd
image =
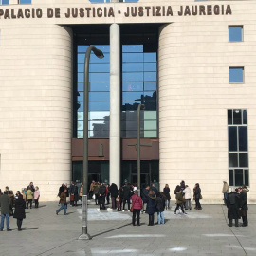
[[[83,137],[84,57],[88,46],[77,46],[77,137]],[[109,46],[96,46],[104,53],[97,58],[93,52],[89,65],[88,137],[109,137]]]

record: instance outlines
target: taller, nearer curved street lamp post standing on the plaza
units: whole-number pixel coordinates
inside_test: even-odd
[[[82,189],[82,234],[79,239],[91,239],[87,232],[87,187],[88,187],[88,111],[89,111],[89,62],[91,51],[102,59],[102,51],[95,46],[89,46],[84,58],[84,84],[83,84],[83,189]]]

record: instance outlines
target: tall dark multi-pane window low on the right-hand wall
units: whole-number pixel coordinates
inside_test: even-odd
[[[247,110],[228,110],[229,186],[249,185]]]

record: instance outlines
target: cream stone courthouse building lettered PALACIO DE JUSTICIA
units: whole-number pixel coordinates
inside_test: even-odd
[[[256,202],[255,0],[0,0],[2,190],[82,181],[90,45],[89,182],[137,182],[142,104],[142,186],[221,203],[226,180]]]

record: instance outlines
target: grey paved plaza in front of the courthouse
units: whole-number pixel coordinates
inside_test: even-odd
[[[12,231],[0,232],[0,255],[256,255],[256,205],[249,205],[246,228],[228,227],[224,205],[202,205],[188,215],[174,215],[172,206],[164,225],[149,227],[148,215],[142,214],[141,226],[134,227],[132,213],[100,211],[90,204],[92,240],[78,240],[82,207],[68,206],[66,216],[63,211],[57,216],[57,202],[41,202],[39,209],[26,210],[23,231],[10,219]]]

